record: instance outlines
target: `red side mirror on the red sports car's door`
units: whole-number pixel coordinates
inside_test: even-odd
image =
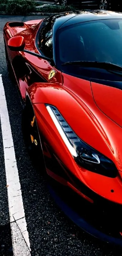
[[[23,36],[13,36],[8,40],[7,45],[11,51],[22,51],[25,48],[25,39]]]

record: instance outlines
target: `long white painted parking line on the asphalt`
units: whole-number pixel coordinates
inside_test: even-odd
[[[30,242],[25,220],[21,186],[15,157],[12,131],[9,122],[5,91],[0,74],[0,120],[2,128],[6,189],[8,190],[8,205],[11,222],[12,245],[14,256],[31,255]]]

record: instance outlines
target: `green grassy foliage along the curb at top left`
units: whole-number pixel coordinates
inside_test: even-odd
[[[66,11],[74,11],[75,7],[63,5],[45,5],[36,9],[38,3],[31,0],[0,0],[0,11],[4,11],[10,15],[26,15],[28,13],[41,12],[41,13],[61,13]]]

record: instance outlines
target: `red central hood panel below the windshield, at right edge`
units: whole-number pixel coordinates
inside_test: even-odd
[[[98,108],[122,127],[122,82],[109,85],[91,82],[93,97]]]

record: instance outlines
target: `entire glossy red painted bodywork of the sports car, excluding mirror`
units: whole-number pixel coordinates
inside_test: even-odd
[[[107,200],[122,204],[122,128],[120,127],[122,121],[120,110],[118,110],[119,107],[121,108],[120,90],[118,92],[117,89],[111,87],[106,88],[103,85],[63,74],[44,59],[25,52],[12,52],[8,48],[8,40],[10,38],[14,40],[12,37],[17,35],[18,38],[19,36],[24,38],[25,49],[39,53],[35,45],[35,36],[41,22],[42,20],[29,21],[24,23],[22,27],[10,27],[10,24],[6,23],[4,38],[8,58],[21,97],[23,100],[25,100],[25,97],[29,97],[35,112],[39,132],[44,138],[44,145],[48,147],[48,152],[47,149],[45,150],[45,146],[43,148],[44,157],[48,161],[51,161],[54,157],[55,161],[60,162],[64,167],[64,173],[67,174],[68,170],[96,194]],[[28,67],[28,72],[24,73],[26,69],[23,68],[22,60]],[[19,74],[16,70],[18,64],[20,65]],[[51,80],[48,80],[52,68],[56,71],[56,74]],[[42,78],[43,81],[41,81]],[[105,103],[108,94],[110,99]],[[112,101],[115,94],[119,97],[119,101],[114,101],[114,109],[112,108]],[[57,107],[79,138],[115,163],[118,169],[116,178],[109,178],[87,171],[76,163],[61,139],[45,103]],[[65,178],[62,179],[60,175],[54,174],[48,166],[46,166],[46,169],[48,175],[58,182],[60,179],[63,185],[65,183],[68,186]],[[75,191],[78,190],[74,181],[71,180],[70,184],[72,189],[74,187]],[[114,193],[111,190],[114,190]]]

